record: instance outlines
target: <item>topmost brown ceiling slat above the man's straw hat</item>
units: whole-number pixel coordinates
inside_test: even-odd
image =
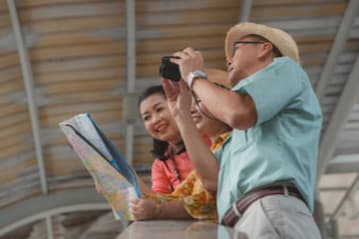
[[[254,1],[255,2],[255,1]],[[306,18],[306,17],[327,17],[342,15],[346,9],[345,2],[338,3],[320,3],[307,4],[300,7],[287,2],[286,4],[265,7],[252,6],[251,20],[273,20],[273,19],[289,19],[289,18]]]

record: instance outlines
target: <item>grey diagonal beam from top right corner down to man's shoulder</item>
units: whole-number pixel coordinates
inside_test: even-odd
[[[335,36],[334,43],[327,57],[327,61],[325,62],[322,73],[320,74],[317,86],[315,87],[315,93],[317,94],[319,100],[321,100],[321,98],[325,94],[325,89],[329,84],[329,81],[335,70],[337,59],[340,53],[343,52],[345,48],[345,44],[350,34],[350,30],[352,29],[352,25],[355,18],[358,16],[358,13],[359,1],[351,0],[345,10],[344,17]]]

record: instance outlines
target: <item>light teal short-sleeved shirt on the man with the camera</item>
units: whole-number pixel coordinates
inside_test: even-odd
[[[234,129],[215,153],[219,218],[245,193],[279,181],[295,184],[313,211],[322,114],[307,74],[290,58],[278,57],[232,90],[251,96],[257,122]]]

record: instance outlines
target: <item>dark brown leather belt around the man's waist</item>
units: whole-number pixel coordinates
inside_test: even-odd
[[[252,203],[260,198],[276,194],[289,195],[303,200],[299,191],[294,186],[275,185],[257,189],[234,202],[233,206],[224,214],[221,224],[233,227]]]

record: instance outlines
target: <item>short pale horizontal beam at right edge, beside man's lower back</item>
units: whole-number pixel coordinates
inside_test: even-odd
[[[330,160],[326,174],[359,172],[359,154],[338,155]]]

